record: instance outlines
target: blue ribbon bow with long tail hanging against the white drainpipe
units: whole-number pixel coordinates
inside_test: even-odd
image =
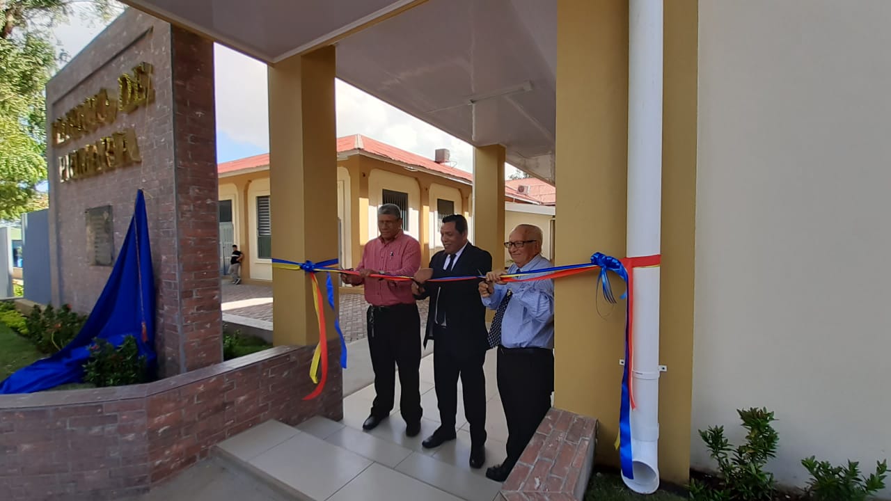
[[[627,290],[628,270],[625,269],[622,261],[597,252],[591,256],[591,262],[601,267],[601,273],[598,275],[597,280],[601,283],[603,297],[610,303],[616,303],[616,297],[613,296],[612,288],[609,286],[609,276],[607,276],[607,272],[611,271],[625,282],[625,293],[620,298],[624,300],[629,293]],[[632,456],[631,450],[631,390],[628,387],[628,382],[631,380],[631,364],[628,360],[628,349],[630,348],[630,343],[628,342],[630,341],[628,337],[628,316],[630,313],[628,311],[628,303],[625,303],[625,367],[622,371],[622,404],[619,408],[618,420],[618,456],[619,462],[622,465],[622,475],[628,480],[634,480],[634,456]]]

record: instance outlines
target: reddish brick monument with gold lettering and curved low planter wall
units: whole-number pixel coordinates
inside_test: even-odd
[[[53,303],[88,313],[145,193],[163,379],[0,395],[0,499],[119,499],[274,419],[343,418],[314,346],[222,361],[213,44],[128,10],[46,86]],[[328,357],[339,359],[339,344]]]

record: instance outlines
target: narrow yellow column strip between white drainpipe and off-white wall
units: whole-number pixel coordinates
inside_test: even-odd
[[[662,107],[662,270],[659,291],[659,472],[690,476],[699,2],[665,3]],[[699,439],[699,437],[697,437]]]

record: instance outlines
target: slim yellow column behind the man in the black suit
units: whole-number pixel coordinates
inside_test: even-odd
[[[473,149],[472,242],[492,254],[499,269],[504,249],[504,147],[492,144]]]

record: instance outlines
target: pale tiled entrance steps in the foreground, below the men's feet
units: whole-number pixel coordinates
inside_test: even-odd
[[[427,432],[436,426],[429,424]],[[492,501],[498,496],[500,484],[468,466],[439,461],[431,451],[405,447],[413,444],[398,443],[385,431],[374,434],[321,417],[298,428],[269,421],[225,440],[216,451],[292,499]],[[401,436],[407,439],[404,430]],[[419,437],[414,439],[421,448]]]

